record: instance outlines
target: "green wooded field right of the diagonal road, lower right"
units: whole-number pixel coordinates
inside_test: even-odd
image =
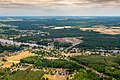
[[[117,80],[120,79],[120,56],[76,56],[71,57],[71,60],[114,77]]]

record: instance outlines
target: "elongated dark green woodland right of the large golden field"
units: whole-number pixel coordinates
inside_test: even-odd
[[[69,62],[64,59],[48,60],[48,59],[44,59],[43,57],[28,57],[25,59],[21,59],[21,62],[34,64],[37,67],[65,68],[65,69],[70,69],[71,71],[82,68],[80,65],[73,62]]]

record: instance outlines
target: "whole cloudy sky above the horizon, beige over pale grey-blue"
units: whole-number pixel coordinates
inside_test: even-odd
[[[0,16],[120,16],[120,0],[0,0]]]

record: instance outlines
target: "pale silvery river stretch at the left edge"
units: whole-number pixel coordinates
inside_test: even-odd
[[[14,42],[14,41],[12,41],[12,40],[5,40],[5,39],[0,39],[0,42],[1,43],[7,43],[7,44],[11,44],[11,45],[29,45],[29,46],[31,46],[31,47],[38,47],[38,46],[40,46],[40,45],[37,45],[37,44],[32,44],[32,43],[21,43],[21,42]]]

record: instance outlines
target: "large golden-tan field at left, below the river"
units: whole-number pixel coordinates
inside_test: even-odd
[[[13,63],[14,64],[19,63],[20,59],[23,59],[23,58],[26,58],[26,57],[30,57],[30,56],[37,56],[37,55],[34,54],[34,53],[31,53],[29,51],[23,51],[23,52],[20,52],[17,55],[7,57],[6,58],[7,62],[2,62],[2,64],[3,64],[2,67],[10,67],[10,66],[12,66]]]

